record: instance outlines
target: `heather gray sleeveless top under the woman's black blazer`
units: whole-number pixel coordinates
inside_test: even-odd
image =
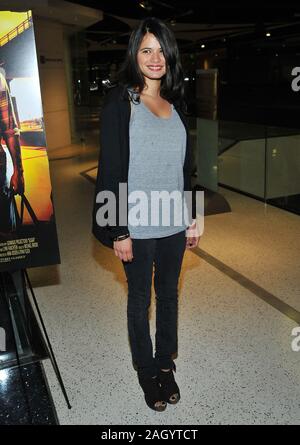
[[[128,171],[128,229],[131,238],[161,238],[187,227],[183,206],[186,130],[174,106],[171,107],[171,116],[160,118],[142,101],[132,102]],[[167,198],[162,205],[157,193],[153,193],[162,191],[169,198],[175,198],[176,193],[169,195],[166,192],[180,193],[177,193],[175,203],[174,199]]]

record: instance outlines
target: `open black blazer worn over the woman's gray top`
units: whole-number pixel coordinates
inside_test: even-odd
[[[113,238],[128,233],[127,225],[119,225],[118,199],[119,183],[128,182],[129,167],[129,121],[130,101],[123,86],[112,88],[105,97],[101,120],[100,120],[100,154],[98,163],[98,174],[95,187],[92,232],[102,244],[113,247]],[[179,106],[174,103],[186,132],[187,146],[183,166],[184,190],[191,188],[191,148],[187,122]],[[100,227],[96,222],[96,212],[103,204],[96,203],[96,196],[100,191],[110,190],[116,196],[117,203],[117,225]],[[193,193],[192,218],[196,218],[195,196]]]

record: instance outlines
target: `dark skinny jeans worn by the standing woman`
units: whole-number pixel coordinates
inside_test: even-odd
[[[128,283],[127,320],[131,354],[139,375],[155,376],[174,367],[177,352],[178,279],[185,231],[163,238],[132,239],[133,260],[123,261]],[[156,294],[155,357],[149,327],[154,265]]]

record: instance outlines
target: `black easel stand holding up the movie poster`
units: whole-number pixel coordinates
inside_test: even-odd
[[[30,290],[37,316],[33,311],[27,286]],[[0,272],[0,297],[4,300],[7,313],[9,314],[7,327],[12,333],[11,343],[15,351],[15,359],[9,353],[6,355],[7,367],[18,366],[20,369],[25,364],[50,358],[66,404],[71,409],[55,354],[26,269],[14,272]],[[0,365],[1,363],[3,361],[0,361]]]

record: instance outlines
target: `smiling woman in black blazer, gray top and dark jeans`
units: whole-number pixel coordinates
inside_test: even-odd
[[[119,73],[119,86],[106,97],[101,117],[101,153],[96,186],[121,200],[119,185],[128,185],[127,220],[99,223],[98,197],[93,232],[114,249],[128,282],[128,332],[133,362],[147,405],[164,411],[175,404],[180,390],[175,382],[172,356],[177,351],[177,285],[184,251],[197,246],[195,199],[192,224],[175,219],[182,206],[169,201],[169,224],[164,212],[149,199],[135,212],[136,192],[149,198],[153,191],[191,191],[188,130],[183,103],[183,74],[175,37],[160,20],[147,18],[133,31],[127,56]],[[181,204],[184,200],[181,200]],[[102,203],[103,205],[104,203]],[[184,205],[183,205],[184,206]],[[102,209],[103,210],[103,209]],[[137,223],[143,214],[146,223]],[[155,223],[151,216],[154,214]],[[147,218],[148,216],[148,218]],[[150,221],[150,223],[149,223]],[[152,272],[156,293],[156,351],[149,330]]]

